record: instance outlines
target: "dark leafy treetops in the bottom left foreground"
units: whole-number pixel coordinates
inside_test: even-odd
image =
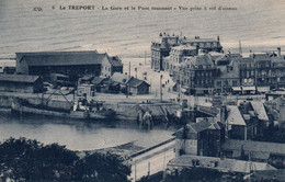
[[[130,168],[113,153],[87,153],[57,144],[43,145],[26,138],[0,144],[2,181],[127,181]]]

